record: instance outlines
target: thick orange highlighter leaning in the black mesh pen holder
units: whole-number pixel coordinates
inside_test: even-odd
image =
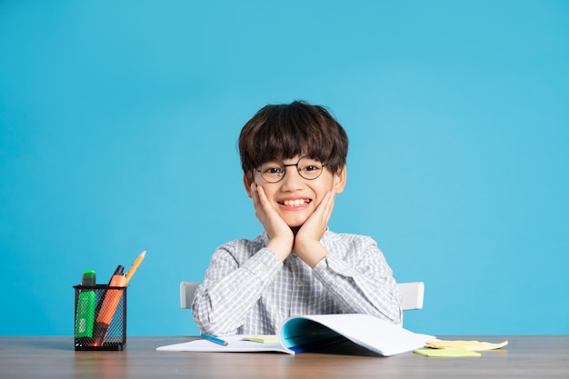
[[[126,276],[123,274],[125,267],[118,265],[115,274],[109,282],[109,287],[125,287]],[[109,325],[115,316],[116,307],[123,297],[123,291],[117,289],[108,289],[105,293],[105,299],[99,309],[97,318],[95,320],[95,341],[94,346],[103,346],[105,343],[106,333],[109,330]]]

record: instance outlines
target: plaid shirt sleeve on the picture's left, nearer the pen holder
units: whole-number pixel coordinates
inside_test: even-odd
[[[245,322],[245,315],[283,267],[272,250],[250,251],[247,243],[240,240],[217,248],[205,272],[204,283],[195,291],[192,316],[204,333],[237,333],[237,328]]]

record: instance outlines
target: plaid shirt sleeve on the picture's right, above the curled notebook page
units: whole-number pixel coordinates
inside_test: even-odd
[[[347,254],[330,248],[314,267],[314,276],[344,304],[346,313],[372,314],[402,324],[401,296],[392,269],[372,238],[359,237]]]

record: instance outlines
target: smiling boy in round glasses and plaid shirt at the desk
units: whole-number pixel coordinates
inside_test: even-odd
[[[276,334],[294,314],[373,314],[402,323],[384,255],[327,223],[344,190],[348,137],[324,107],[266,105],[239,136],[245,191],[265,232],[218,247],[195,292],[206,334]]]

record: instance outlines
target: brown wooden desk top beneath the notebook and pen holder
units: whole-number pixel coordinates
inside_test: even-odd
[[[569,335],[445,338],[510,344],[474,358],[384,358],[155,351],[191,339],[185,337],[128,337],[122,352],[75,352],[71,337],[0,336],[0,378],[569,378]]]

